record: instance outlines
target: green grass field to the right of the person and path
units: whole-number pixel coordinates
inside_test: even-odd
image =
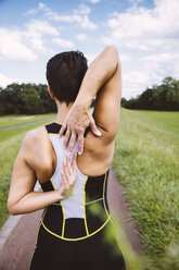
[[[113,167],[150,270],[179,269],[179,112],[122,109]]]

